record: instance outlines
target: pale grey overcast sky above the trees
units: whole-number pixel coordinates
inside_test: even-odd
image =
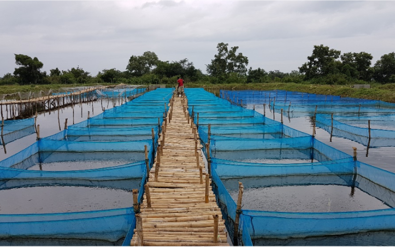
[[[394,0],[0,0],[0,77],[14,53],[95,76],[154,51],[205,73],[219,42],[266,71],[298,70],[319,44],[374,64],[395,51],[394,16]]]

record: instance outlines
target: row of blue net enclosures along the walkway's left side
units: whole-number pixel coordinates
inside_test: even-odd
[[[138,189],[141,201],[173,90],[146,92],[1,161],[0,190],[36,186]],[[129,246],[135,226],[131,198],[130,193],[127,208],[0,214],[0,245]]]

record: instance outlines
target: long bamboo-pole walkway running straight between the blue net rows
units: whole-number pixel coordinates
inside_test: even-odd
[[[186,102],[171,100],[131,246],[229,246]]]

